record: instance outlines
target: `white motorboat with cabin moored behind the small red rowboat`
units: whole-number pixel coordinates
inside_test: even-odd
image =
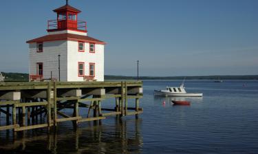
[[[166,90],[154,90],[155,96],[160,97],[202,97],[202,93],[187,93],[184,84],[180,87],[166,87]]]

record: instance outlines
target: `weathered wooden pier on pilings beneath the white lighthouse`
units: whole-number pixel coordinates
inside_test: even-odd
[[[50,128],[65,121],[77,126],[112,115],[138,118],[142,113],[140,98],[142,81],[3,82],[0,83],[0,115],[6,114],[6,125],[0,125],[0,131]],[[114,108],[103,108],[105,99],[114,99]],[[135,99],[135,103],[129,104],[128,99]],[[72,112],[64,113],[65,109]],[[87,116],[81,116],[79,110]],[[43,116],[46,116],[44,120]]]

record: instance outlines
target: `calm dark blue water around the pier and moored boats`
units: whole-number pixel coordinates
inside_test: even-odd
[[[78,129],[61,123],[51,133],[36,129],[15,139],[12,131],[2,131],[0,153],[258,153],[258,81],[186,81],[188,92],[204,93],[203,98],[181,98],[190,106],[153,97],[154,89],[180,82],[144,81],[144,114],[138,120],[114,116]]]

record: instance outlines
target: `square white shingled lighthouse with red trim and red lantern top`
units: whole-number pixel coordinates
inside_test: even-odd
[[[47,35],[28,40],[30,80],[104,81],[105,42],[87,35],[80,10],[68,4],[53,10]]]

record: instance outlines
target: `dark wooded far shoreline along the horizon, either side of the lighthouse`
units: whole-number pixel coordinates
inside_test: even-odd
[[[4,73],[2,75],[5,81],[28,81],[29,75],[27,73]],[[258,75],[210,75],[210,76],[178,76],[178,77],[139,77],[139,79],[258,79]],[[105,75],[105,80],[134,80],[137,77]]]

